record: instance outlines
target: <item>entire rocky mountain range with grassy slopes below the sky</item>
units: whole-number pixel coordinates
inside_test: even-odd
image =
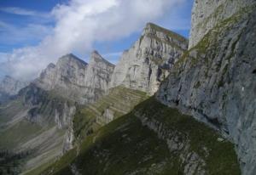
[[[189,50],[148,23],[116,66],[63,56],[0,106],[0,149],[18,150],[2,160],[26,175],[253,175],[255,35],[254,0],[195,0]]]

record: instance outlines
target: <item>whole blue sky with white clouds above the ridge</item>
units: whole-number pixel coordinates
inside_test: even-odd
[[[31,81],[62,55],[116,64],[148,22],[189,37],[193,0],[0,0],[0,78]]]

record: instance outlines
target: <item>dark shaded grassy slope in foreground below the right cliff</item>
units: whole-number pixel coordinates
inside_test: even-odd
[[[143,126],[138,117],[163,123],[170,135],[179,133],[178,142],[189,145],[190,153],[206,161],[207,174],[240,174],[233,144],[218,141],[216,131],[154,98],[91,134],[81,144],[78,156],[77,150],[70,150],[42,174],[71,174],[71,165],[82,174],[183,174],[180,157],[188,150],[170,151],[166,139]]]

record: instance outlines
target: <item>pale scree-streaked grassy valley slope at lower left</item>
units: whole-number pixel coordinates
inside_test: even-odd
[[[29,89],[20,95],[18,99],[12,100],[9,104],[0,106],[0,150],[15,150],[14,154],[20,151],[29,153],[19,157],[16,172],[27,171],[36,168],[45,162],[54,161],[55,157],[61,155],[64,131],[55,127],[54,108],[60,108],[61,103],[68,99],[63,99],[54,92],[40,92],[33,94]],[[32,88],[33,90],[33,88]],[[31,91],[32,91],[31,90]],[[41,102],[35,108],[39,115],[44,116],[44,125],[28,121],[26,119],[28,106],[25,99],[30,94],[37,96]],[[27,98],[29,99],[29,98]],[[1,158],[0,158],[1,159]],[[3,167],[3,170],[8,167]],[[1,173],[0,173],[1,174]]]

